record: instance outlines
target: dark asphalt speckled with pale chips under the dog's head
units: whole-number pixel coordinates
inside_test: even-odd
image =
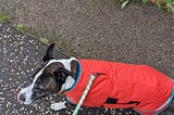
[[[63,95],[52,94],[33,105],[16,101],[16,94],[41,63],[47,46],[38,39],[22,34],[15,27],[0,23],[0,114],[1,115],[71,115],[73,105],[67,110],[54,112],[50,104],[64,100]],[[59,50],[55,58],[67,58]],[[130,110],[105,110],[82,107],[79,115],[138,115]],[[172,115],[166,111],[161,115]]]

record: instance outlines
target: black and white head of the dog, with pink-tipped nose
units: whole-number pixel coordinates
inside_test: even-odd
[[[66,78],[73,76],[70,63],[63,63],[64,60],[52,58],[53,47],[54,43],[49,46],[42,59],[45,65],[34,74],[32,84],[18,92],[17,100],[20,102],[30,104],[50,93],[60,91]]]

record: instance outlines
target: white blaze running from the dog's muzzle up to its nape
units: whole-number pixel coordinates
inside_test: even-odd
[[[24,101],[23,103],[24,103],[24,104],[30,104],[30,103],[33,103],[33,101],[35,101],[35,100],[32,99],[33,89],[34,89],[34,87],[35,87],[35,84],[36,84],[37,79],[38,79],[39,76],[44,73],[44,71],[45,71],[45,68],[46,68],[47,66],[49,66],[49,65],[52,64],[52,63],[60,62],[60,63],[62,63],[62,64],[64,65],[64,67],[65,67],[67,71],[71,71],[70,63],[71,63],[72,60],[75,60],[75,59],[74,59],[74,58],[71,58],[70,60],[50,60],[50,61],[48,62],[48,64],[47,64],[46,66],[44,66],[44,67],[35,75],[33,82],[32,82],[28,87],[23,88],[23,89],[20,91],[18,95],[23,94],[24,98],[25,98],[25,101]]]

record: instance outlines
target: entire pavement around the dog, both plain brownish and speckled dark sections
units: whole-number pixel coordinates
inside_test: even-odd
[[[47,48],[39,38],[48,38],[71,55],[148,64],[174,78],[174,16],[153,4],[142,8],[140,2],[134,2],[124,10],[115,0],[0,0],[0,12],[11,16],[13,26],[25,24],[35,36],[0,23],[2,115],[65,115],[73,111],[70,105],[69,110],[52,112],[50,103],[63,100],[55,95],[34,105],[16,102],[16,92],[26,86]],[[55,55],[66,56],[60,51]],[[79,115],[119,113],[125,115],[129,110],[83,107]]]

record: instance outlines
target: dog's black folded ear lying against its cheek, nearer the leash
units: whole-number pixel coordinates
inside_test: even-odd
[[[55,81],[57,82],[65,82],[69,76],[74,77],[74,74],[63,67],[58,68],[54,73]]]

